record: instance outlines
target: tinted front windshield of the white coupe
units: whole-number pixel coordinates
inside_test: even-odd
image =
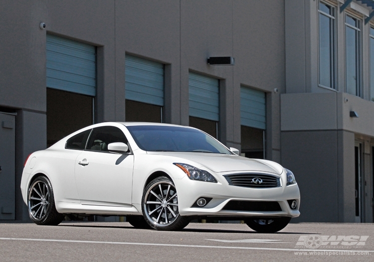
[[[231,153],[214,138],[192,128],[178,126],[127,126],[139,148],[145,151]]]

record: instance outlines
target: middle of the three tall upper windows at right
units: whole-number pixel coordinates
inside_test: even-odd
[[[346,14],[346,91],[360,96],[360,20]]]

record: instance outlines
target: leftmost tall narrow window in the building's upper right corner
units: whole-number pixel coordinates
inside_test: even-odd
[[[336,88],[335,83],[335,11],[334,6],[320,2],[319,8],[319,84]]]

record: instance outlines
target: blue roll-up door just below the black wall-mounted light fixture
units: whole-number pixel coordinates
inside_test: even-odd
[[[189,115],[203,119],[219,120],[219,80],[189,73]]]

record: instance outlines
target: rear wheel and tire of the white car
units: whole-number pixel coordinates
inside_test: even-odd
[[[36,225],[57,226],[64,215],[57,212],[51,182],[44,176],[37,177],[28,189],[28,215]]]

